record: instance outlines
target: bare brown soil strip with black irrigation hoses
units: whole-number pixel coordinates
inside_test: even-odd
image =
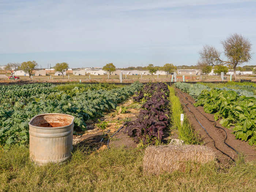
[[[216,128],[214,126],[214,123],[211,122],[211,121],[214,121],[213,114],[205,113],[203,107],[201,106],[198,106],[197,108],[195,108],[195,106],[192,104],[192,103],[195,103],[195,101],[192,97],[190,97],[190,95],[183,92],[181,93],[179,89],[175,89],[175,90],[176,90],[177,96],[180,98],[180,101],[182,103],[185,113],[189,118],[190,123],[193,125],[193,128],[195,129],[196,132],[199,133],[199,135],[203,139],[204,145],[211,147],[216,151],[216,155],[220,162],[225,163],[229,161],[230,158],[227,157],[227,155],[229,155],[231,158],[234,158],[234,159],[238,157],[236,152],[231,148],[229,148],[223,142],[223,140],[225,140],[225,137],[226,137],[225,131],[227,132],[226,143],[229,144],[231,147],[235,148],[238,151],[238,153],[244,154],[245,161],[256,160],[255,146],[250,146],[248,143],[236,139],[234,134],[232,133],[232,130],[222,127],[222,125],[219,124],[218,121],[215,121],[217,126],[225,129],[225,131],[223,131],[222,129]],[[192,113],[189,112],[189,109],[184,105],[184,103]],[[211,136],[211,138],[209,137],[209,135],[207,135],[206,131],[204,131],[204,129],[200,126],[200,124],[197,122],[193,114],[195,115],[197,120],[202,124],[202,126],[206,129],[206,131]],[[209,121],[203,115],[206,116],[211,121]],[[219,150],[217,150],[214,147],[214,141],[215,141],[215,146]],[[224,153],[227,155],[225,155]]]

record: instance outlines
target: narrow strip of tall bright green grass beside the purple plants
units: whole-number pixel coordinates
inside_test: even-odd
[[[170,91],[170,111],[171,111],[171,121],[173,129],[178,130],[178,137],[181,140],[184,140],[186,144],[199,144],[200,140],[197,135],[194,133],[191,124],[188,121],[184,110],[182,109],[180,99],[175,95],[173,87],[169,86]],[[183,125],[181,125],[180,114],[184,114]]]

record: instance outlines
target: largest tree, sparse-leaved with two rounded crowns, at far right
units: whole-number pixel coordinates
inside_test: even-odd
[[[230,35],[225,41],[221,41],[227,60],[221,59],[221,52],[213,46],[206,45],[199,52],[201,60],[208,65],[230,64],[234,69],[236,80],[236,68],[242,63],[248,63],[252,59],[252,44],[242,35]]]

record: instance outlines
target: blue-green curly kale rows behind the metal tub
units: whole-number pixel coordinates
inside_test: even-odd
[[[86,130],[86,120],[101,116],[105,110],[116,108],[117,103],[142,89],[143,85],[133,83],[130,86],[111,90],[74,87],[70,91],[56,91],[50,84],[48,87],[39,84],[30,86],[29,88],[11,86],[5,88],[19,93],[23,91],[24,94],[20,96],[17,94],[14,97],[4,92],[0,94],[1,99],[5,101],[1,101],[3,105],[0,106],[0,145],[2,146],[27,144],[29,141],[28,122],[35,115],[42,113],[71,114],[75,117],[74,129]]]

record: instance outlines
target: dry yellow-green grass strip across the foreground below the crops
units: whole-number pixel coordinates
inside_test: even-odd
[[[76,148],[69,162],[35,166],[29,149],[0,152],[0,191],[255,191],[256,163],[145,176],[143,151]]]

